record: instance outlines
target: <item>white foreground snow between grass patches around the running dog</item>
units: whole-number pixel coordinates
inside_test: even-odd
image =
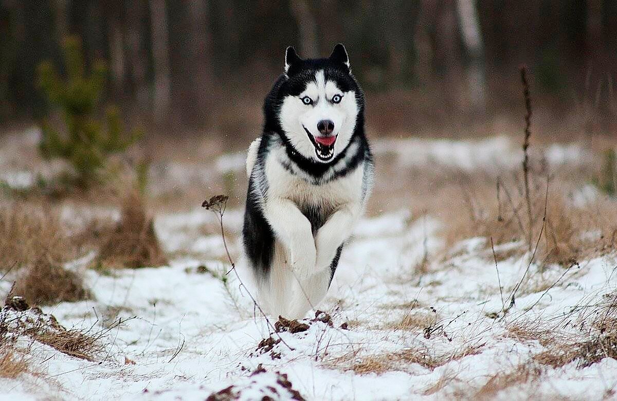
[[[234,216],[239,213],[230,213],[230,231],[238,231],[239,219]],[[203,217],[198,218],[199,214],[196,210],[176,219],[163,216],[157,220],[157,230],[162,238],[171,238],[170,233],[183,224],[193,226],[209,219],[204,210]],[[190,216],[194,218],[187,218]],[[546,294],[544,290],[523,294],[506,319],[494,320],[487,315],[499,312],[503,304],[494,262],[482,247],[484,240],[462,242],[458,249],[463,252],[456,252],[442,265],[432,265],[429,273],[418,279],[411,274],[413,266],[425,252],[436,252],[441,244],[435,236],[439,221],[417,218],[405,223],[408,218],[407,212],[399,212],[366,218],[360,223],[354,240],[342,254],[328,299],[320,305],[332,314],[333,326],[318,321],[302,333],[281,332],[280,337],[289,347],[283,342],[274,346],[272,351],[280,353],[278,359],[273,359],[270,352],[256,350],[257,344],[270,334],[259,312],[253,315],[246,289],[239,288],[233,274],[226,290],[220,279],[198,273],[199,265],[221,274],[229,268],[218,258],[206,256],[218,256],[214,238],[205,241],[212,241],[211,246],[204,246],[204,238],[193,239],[192,247],[202,252],[203,258],[172,260],[168,267],[117,270],[112,275],[89,270],[86,281],[95,300],[63,303],[44,311],[53,313],[66,327],[78,328],[109,324],[117,317],[137,317],[110,333],[109,357],[101,364],[38,347],[35,358],[45,361],[41,368],[60,387],[46,391],[70,399],[192,400],[204,399],[233,385],[239,399],[263,395],[290,399],[291,393],[277,382],[276,372],[280,372],[287,374],[293,389],[307,399],[431,398],[424,394],[427,389],[450,377],[450,384],[435,394],[453,395],[465,383],[481,387],[491,374],[524,363],[541,350],[536,342],[504,338],[508,321],[525,314],[529,319],[559,316],[582,299],[601,297],[617,285],[613,265],[605,258],[597,258],[573,268]],[[188,238],[182,241],[191,245]],[[514,286],[524,268],[525,258],[500,262],[503,287]],[[555,283],[563,274],[563,268],[557,266],[542,273],[536,269],[532,264],[529,276],[542,275],[542,280],[549,283]],[[385,328],[384,323],[398,321],[407,312],[396,305],[414,299],[416,310],[434,313],[444,329],[425,338],[421,329]],[[526,310],[534,304],[536,307]],[[346,321],[357,323],[349,329],[339,328]],[[278,336],[273,334],[273,338]],[[344,369],[369,355],[404,349],[445,355],[469,345],[479,346],[479,353],[432,371],[416,363],[383,374],[355,374]],[[350,352],[357,353],[355,359],[333,362]],[[135,365],[125,365],[125,357]],[[266,372],[251,376],[259,364]],[[549,371],[534,391],[551,397],[602,399],[603,386],[617,382],[616,368],[614,360],[604,360],[582,371],[566,366]],[[13,399],[43,394],[36,387],[27,391],[16,384],[4,388],[10,388]],[[524,399],[528,390],[521,384],[518,391],[508,389],[500,397]]]

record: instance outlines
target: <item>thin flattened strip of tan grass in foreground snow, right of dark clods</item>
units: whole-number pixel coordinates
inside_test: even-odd
[[[329,368],[354,371],[356,374],[383,374],[388,371],[405,371],[408,365],[416,363],[423,368],[434,370],[446,363],[460,360],[468,355],[480,353],[481,345],[469,345],[453,352],[437,353],[428,347],[409,347],[395,352],[384,352],[359,357],[360,350],[346,353],[326,362]]]

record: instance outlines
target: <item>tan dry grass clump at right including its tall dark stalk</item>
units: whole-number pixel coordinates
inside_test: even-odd
[[[536,255],[536,261],[542,264],[561,265],[572,265],[580,258],[615,250],[617,243],[613,233],[617,232],[617,218],[611,212],[615,210],[615,202],[610,201],[608,208],[602,208],[601,202],[577,208],[566,197],[568,189],[575,191],[581,187],[581,182],[590,181],[594,175],[590,163],[585,168],[567,171],[568,168],[563,167],[560,171],[552,172],[543,151],[535,155],[530,151],[531,96],[526,67],[521,67],[520,72],[526,110],[521,170],[511,178],[498,176],[491,183],[494,185],[492,194],[486,182],[481,187],[481,196],[477,196],[474,186],[467,183],[466,187],[471,189],[464,192],[463,199],[470,210],[470,218],[462,214],[462,219],[447,227],[447,244],[452,245],[472,236],[483,236],[487,239],[487,246],[492,242],[504,244],[521,241],[525,246],[520,247],[520,254],[529,252]],[[462,210],[460,206],[455,210]],[[598,215],[602,219],[598,219]],[[587,235],[589,231],[598,228],[602,230],[602,239],[611,236],[611,241],[603,244],[599,252],[594,246],[594,240]],[[508,252],[504,256],[511,255]],[[494,257],[497,262],[497,254]]]

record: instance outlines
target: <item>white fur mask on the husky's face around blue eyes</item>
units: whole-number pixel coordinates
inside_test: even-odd
[[[335,104],[332,98],[335,94],[342,96],[341,102]],[[307,105],[302,98],[309,96],[313,104]],[[333,134],[337,135],[334,143],[336,157],[349,143],[358,116],[358,104],[355,92],[343,93],[333,81],[325,81],[323,70],[315,74],[315,82],[310,82],[300,96],[286,96],[280,111],[280,122],[285,135],[292,146],[304,157],[324,162],[315,154],[315,146],[310,141],[304,128],[313,136],[319,136],[317,124],[321,120],[334,122]],[[304,128],[303,128],[304,127]]]

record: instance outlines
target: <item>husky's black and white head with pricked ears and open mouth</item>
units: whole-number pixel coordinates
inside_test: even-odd
[[[302,60],[287,49],[278,123],[305,158],[328,163],[347,147],[363,112],[362,96],[342,44],[328,59]]]

